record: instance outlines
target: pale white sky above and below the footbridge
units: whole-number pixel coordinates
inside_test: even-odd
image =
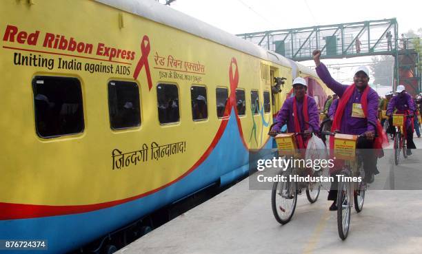
[[[397,19],[399,34],[422,28],[422,1],[416,0],[177,0],[170,7],[232,34],[392,18]],[[323,62],[369,61],[371,58],[367,56]],[[313,61],[303,64],[310,66]],[[342,80],[350,78],[351,81],[352,69],[334,70],[333,76]]]

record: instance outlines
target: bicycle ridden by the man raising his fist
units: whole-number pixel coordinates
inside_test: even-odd
[[[356,141],[364,135],[339,134],[330,131],[321,131],[323,135],[334,136],[334,156],[344,159],[345,163],[340,173],[339,185],[337,188],[337,229],[341,240],[348,237],[350,229],[350,214],[354,207],[356,213],[360,213],[365,202],[365,191],[368,187],[363,170],[363,158],[361,151],[356,150]],[[336,142],[337,140],[337,142]],[[343,143],[343,145],[341,145]],[[357,159],[356,159],[357,158]],[[360,182],[350,181],[350,177],[356,177]],[[348,181],[345,181],[348,180]],[[352,200],[353,199],[353,203]]]

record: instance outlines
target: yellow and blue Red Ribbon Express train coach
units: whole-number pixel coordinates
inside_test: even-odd
[[[43,253],[237,180],[250,149],[272,147],[293,78],[320,107],[329,93],[152,0],[7,0],[0,17],[0,240],[47,240]]]

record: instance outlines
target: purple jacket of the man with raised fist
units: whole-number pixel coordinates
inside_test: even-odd
[[[334,93],[339,95],[339,98],[343,96],[343,93],[349,87],[335,81],[323,63],[316,67],[316,73]],[[368,92],[368,118],[352,117],[353,103],[361,103],[362,94],[358,89],[354,89],[354,93],[346,104],[343,117],[341,118],[340,132],[342,134],[360,135],[365,131],[374,131],[374,126],[368,124],[370,122],[376,125],[376,116],[378,114],[378,94],[376,94],[374,89],[370,88]]]

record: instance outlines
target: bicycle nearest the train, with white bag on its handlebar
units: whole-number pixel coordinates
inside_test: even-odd
[[[274,126],[273,123],[270,127]],[[290,134],[281,134],[279,133],[277,136],[279,138],[286,138],[286,140],[290,139],[290,144],[292,147],[279,147],[279,151],[286,151],[286,149],[291,149],[290,153],[285,154],[284,156],[289,156],[289,158],[298,158],[299,153],[297,153],[297,149],[294,147],[294,137],[298,135],[303,135],[304,133],[290,133]],[[276,136],[276,137],[277,137]],[[282,153],[282,152],[281,152]],[[280,156],[280,154],[279,154]],[[319,171],[316,173],[312,173],[312,176],[319,175]],[[290,176],[298,176],[299,169],[297,168],[288,168],[288,169],[281,169],[277,172],[277,176],[279,179],[285,177],[285,180],[276,181],[272,184],[272,191],[271,191],[271,207],[272,213],[274,218],[280,224],[286,224],[290,222],[293,217],[294,211],[296,209],[297,204],[297,195],[301,195],[302,189],[306,187],[306,198],[312,204],[318,200],[319,192],[321,190],[321,184],[319,182],[308,182],[299,184],[298,182],[294,182],[294,180],[290,179]]]

